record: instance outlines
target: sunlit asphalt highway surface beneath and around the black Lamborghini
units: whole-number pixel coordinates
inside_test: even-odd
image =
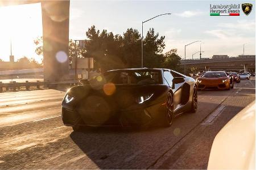
[[[199,91],[196,113],[170,128],[90,128],[61,121],[64,92],[0,94],[0,169],[205,169],[218,131],[255,100],[255,79],[230,91]]]

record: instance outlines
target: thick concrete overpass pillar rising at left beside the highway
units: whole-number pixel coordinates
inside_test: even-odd
[[[44,81],[68,78],[69,1],[42,1]]]

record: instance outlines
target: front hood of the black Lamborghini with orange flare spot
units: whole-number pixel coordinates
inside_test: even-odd
[[[68,90],[67,95],[74,97],[69,105],[85,104],[88,99],[92,101],[104,100],[109,105],[116,105],[118,108],[127,108],[138,104],[137,100],[150,100],[143,104],[155,104],[165,100],[169,88],[164,84],[113,84],[75,86]],[[143,97],[143,99],[142,99]],[[65,101],[63,100],[63,104]]]

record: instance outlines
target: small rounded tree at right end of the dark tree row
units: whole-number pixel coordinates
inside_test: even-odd
[[[181,71],[181,57],[178,56],[176,53],[177,49],[171,49],[169,52],[164,54],[164,67],[175,71]]]

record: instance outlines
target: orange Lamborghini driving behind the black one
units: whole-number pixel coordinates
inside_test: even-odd
[[[198,90],[217,89],[230,90],[234,87],[233,76],[225,71],[207,71],[196,79]]]

